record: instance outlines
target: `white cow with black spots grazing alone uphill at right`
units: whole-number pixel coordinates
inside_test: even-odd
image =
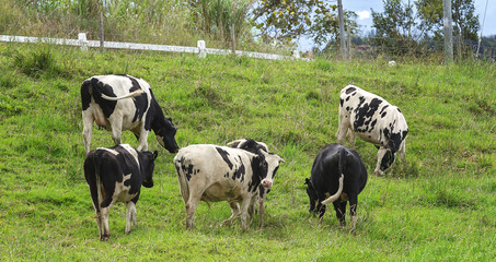
[[[338,118],[337,143],[344,144],[347,135],[355,143],[355,135],[358,135],[379,148],[376,175],[382,175],[391,167],[396,153],[406,165],[408,126],[400,108],[378,95],[348,85],[341,91]]]

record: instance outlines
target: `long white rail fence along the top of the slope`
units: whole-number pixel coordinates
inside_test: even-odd
[[[0,41],[10,43],[47,43],[54,45],[66,45],[66,46],[79,46],[82,50],[88,50],[89,47],[101,47],[100,40],[88,40],[86,34],[80,33],[78,39],[65,39],[65,38],[48,38],[48,37],[31,37],[31,36],[8,36],[0,35]],[[117,48],[117,49],[131,49],[131,50],[151,50],[151,51],[169,51],[169,52],[189,52],[198,53],[199,57],[205,58],[209,55],[231,55],[231,50],[206,48],[205,40],[198,40],[197,47],[183,47],[183,46],[166,46],[166,45],[151,45],[151,44],[136,44],[136,43],[123,43],[123,41],[104,41],[104,48]],[[293,52],[292,57],[263,53],[263,52],[250,52],[250,51],[235,51],[237,56],[245,56],[250,58],[269,59],[269,60],[286,60],[286,59],[299,59],[309,60],[307,58],[300,58],[298,51]]]

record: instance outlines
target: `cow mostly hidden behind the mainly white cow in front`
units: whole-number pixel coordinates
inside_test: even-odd
[[[242,148],[247,152],[251,152],[253,154],[257,154],[259,150],[265,151],[268,153],[268,147],[267,144],[264,142],[258,142],[255,141],[255,143],[249,143],[250,140],[246,139],[240,139],[240,140],[234,140],[228,143],[229,146],[234,147],[234,148]],[[276,174],[274,174],[276,175]],[[274,181],[274,177],[273,177]],[[265,195],[270,192],[270,188],[265,188],[264,186],[258,186],[258,226],[263,227],[264,226],[264,212],[265,212]],[[255,202],[249,206],[249,214],[251,217],[253,217],[253,214],[255,213]]]

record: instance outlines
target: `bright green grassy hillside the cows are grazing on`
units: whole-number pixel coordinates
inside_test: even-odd
[[[0,44],[0,260],[488,261],[496,257],[496,67],[384,61],[264,61],[187,55]],[[125,209],[111,211],[101,242],[83,178],[79,88],[91,75],[147,80],[173,118],[180,146],[264,141],[286,163],[257,218],[216,228],[226,203],[200,204],[185,231],[173,154],[160,156],[155,186],[143,189],[138,227],[124,234]],[[308,213],[303,181],[313,158],[335,142],[338,93],[356,84],[404,112],[408,164],[372,175],[376,147],[355,145],[369,170],[358,196],[357,235],[328,209]],[[129,132],[124,142],[137,146]],[[111,146],[94,130],[92,147]]]

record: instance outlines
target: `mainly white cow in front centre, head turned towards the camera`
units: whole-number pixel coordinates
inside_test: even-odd
[[[250,140],[247,143],[256,142]],[[241,148],[208,144],[181,148],[174,157],[174,166],[186,205],[186,229],[195,227],[194,215],[199,201],[227,201],[232,215],[222,225],[240,216],[242,229],[246,230],[249,207],[256,201],[258,187],[272,187],[281,162],[280,156],[264,151],[252,154]]]

